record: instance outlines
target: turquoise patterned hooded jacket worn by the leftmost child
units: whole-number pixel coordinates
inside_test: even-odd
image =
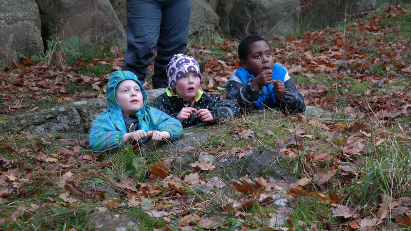
[[[169,140],[177,139],[182,133],[179,120],[169,115],[146,106],[147,93],[143,84],[138,81],[137,76],[130,71],[115,71],[111,74],[107,82],[107,102],[108,109],[99,115],[91,127],[89,144],[94,151],[103,151],[107,148],[114,148],[124,143],[124,134],[127,133],[123,114],[116,100],[116,87],[119,82],[131,79],[137,82],[141,88],[144,98],[143,108],[136,113],[138,118],[138,130],[148,132],[150,130],[170,132]],[[143,142],[146,140],[142,140]]]

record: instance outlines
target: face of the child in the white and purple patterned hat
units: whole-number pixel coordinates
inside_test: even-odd
[[[201,78],[196,72],[187,72],[174,85],[176,94],[184,101],[188,101],[197,95],[200,83]]]

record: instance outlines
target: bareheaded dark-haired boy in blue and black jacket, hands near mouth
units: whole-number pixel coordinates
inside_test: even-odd
[[[304,98],[287,69],[274,64],[271,46],[261,35],[250,34],[238,45],[241,67],[229,81],[226,99],[237,100],[243,112],[278,107],[289,113],[305,111]]]

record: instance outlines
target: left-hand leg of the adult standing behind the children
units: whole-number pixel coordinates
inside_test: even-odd
[[[126,10],[127,50],[123,70],[133,72],[143,83],[160,35],[161,3],[156,0],[127,0]]]

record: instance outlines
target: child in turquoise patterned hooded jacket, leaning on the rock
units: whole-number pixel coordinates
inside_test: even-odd
[[[182,132],[179,120],[146,105],[143,84],[130,71],[115,71],[107,82],[108,109],[93,122],[89,144],[104,151],[133,140],[175,140]]]

